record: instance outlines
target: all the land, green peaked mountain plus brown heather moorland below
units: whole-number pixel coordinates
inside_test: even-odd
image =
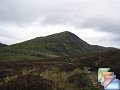
[[[97,70],[120,79],[120,50],[62,32],[0,48],[0,90],[103,90]]]

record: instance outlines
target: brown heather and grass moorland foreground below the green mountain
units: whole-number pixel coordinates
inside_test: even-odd
[[[120,50],[43,61],[1,62],[0,90],[103,90],[95,84],[99,67],[111,68],[120,79]]]

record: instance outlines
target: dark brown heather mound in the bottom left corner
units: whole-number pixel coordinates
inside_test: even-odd
[[[53,90],[54,83],[40,76],[25,75],[0,87],[0,90]]]

